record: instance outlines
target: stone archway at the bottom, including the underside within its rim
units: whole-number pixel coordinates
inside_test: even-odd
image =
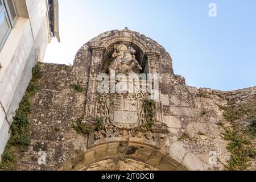
[[[121,140],[120,140],[121,139]],[[130,140],[130,141],[129,141]],[[167,154],[154,142],[138,138],[109,138],[71,159],[61,170],[103,171],[188,171],[188,168]],[[179,155],[179,154],[177,154]]]

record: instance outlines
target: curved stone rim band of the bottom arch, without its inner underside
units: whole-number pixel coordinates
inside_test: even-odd
[[[118,158],[137,160],[159,171],[188,171],[188,167],[163,154],[156,146],[143,143],[142,140],[123,139],[94,144],[81,155],[69,160],[60,170],[79,171],[92,164]]]

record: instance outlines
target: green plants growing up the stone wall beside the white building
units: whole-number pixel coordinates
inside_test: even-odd
[[[31,99],[40,90],[38,84],[39,78],[42,77],[42,71],[38,64],[32,69],[32,79],[28,84],[26,93],[19,103],[19,108],[13,117],[11,125],[10,139],[6,144],[5,151],[2,155],[0,163],[0,171],[8,171],[13,169],[16,163],[16,156],[13,154],[13,147],[27,147],[30,145],[30,121],[28,115],[31,113]]]

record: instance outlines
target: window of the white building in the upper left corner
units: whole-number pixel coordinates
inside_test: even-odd
[[[17,19],[14,0],[0,0],[0,51]]]

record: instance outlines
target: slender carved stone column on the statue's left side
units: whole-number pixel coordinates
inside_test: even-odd
[[[85,104],[85,120],[93,120],[97,117],[97,76],[101,73],[104,47],[92,46],[92,61],[90,64],[90,74],[88,91]]]

